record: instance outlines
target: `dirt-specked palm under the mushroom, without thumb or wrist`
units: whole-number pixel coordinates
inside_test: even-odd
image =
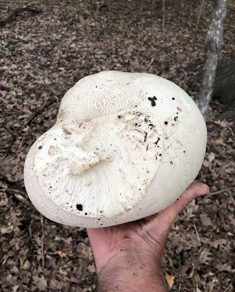
[[[161,226],[160,214],[121,225],[88,229],[89,236],[95,237],[97,242],[97,245],[92,245],[96,264],[102,266],[127,249],[148,253],[158,249],[162,252],[168,229],[166,223]]]

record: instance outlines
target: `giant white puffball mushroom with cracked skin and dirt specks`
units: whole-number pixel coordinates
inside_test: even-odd
[[[174,83],[147,73],[101,72],[64,95],[55,125],[29,150],[25,187],[36,209],[62,224],[141,219],[194,181],[206,139],[198,107]]]

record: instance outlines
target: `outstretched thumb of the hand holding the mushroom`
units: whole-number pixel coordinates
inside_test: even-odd
[[[156,219],[161,220],[166,225],[165,228],[169,229],[176,217],[184,210],[184,208],[194,199],[199,196],[205,195],[209,192],[208,185],[204,183],[192,183],[181,197],[165,208],[163,211],[156,214]]]

